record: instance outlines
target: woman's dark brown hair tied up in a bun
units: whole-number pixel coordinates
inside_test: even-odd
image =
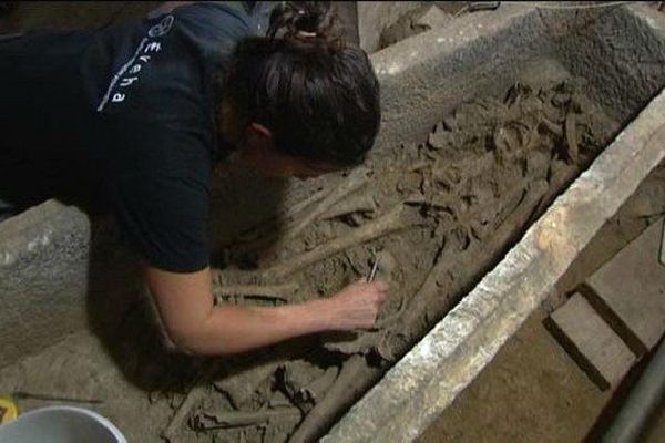
[[[335,33],[329,2],[283,2],[266,38],[242,41],[226,93],[285,154],[349,166],[379,130],[379,83],[367,54]]]

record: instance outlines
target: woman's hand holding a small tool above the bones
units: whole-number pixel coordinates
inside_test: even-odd
[[[330,329],[351,331],[374,327],[379,308],[388,297],[388,286],[380,281],[358,281],[325,300],[325,311]]]

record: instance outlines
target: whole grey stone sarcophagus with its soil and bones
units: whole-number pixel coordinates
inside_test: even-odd
[[[215,291],[238,303],[300,300],[366,276],[380,258],[379,277],[399,288],[383,328],[196,364],[158,360],[149,339],[111,350],[123,372],[176,365],[170,375],[190,382],[188,396],[160,385],[166,394],[149,401],[136,377],[141,389],[127,395],[136,404],[122,409],[127,399],[95,384],[105,357],[84,332],[99,309],[90,305],[131,299],[119,278],[133,267],[112,235],[95,231],[93,259],[104,266],[92,266],[90,225],[78,209],[49,202],[4,222],[0,312],[11,333],[0,348],[2,388],[43,391],[50,380],[51,391],[69,396],[105,394],[100,410],[135,441],[156,441],[174,414],[167,433],[184,441],[310,441],[327,432],[335,442],[416,439],[661,162],[664,29],[663,16],[638,6],[504,7],[372,55],[385,110],[375,154],[347,176],[289,184],[285,207],[299,210],[283,214],[277,238],[269,229],[214,233],[225,267],[215,270]],[[216,197],[214,219],[223,220],[231,198]],[[270,215],[260,209],[250,210],[254,220]],[[229,223],[247,226],[241,215],[227,215]],[[137,328],[142,316],[130,312],[123,324]],[[72,362],[81,359],[89,367]]]

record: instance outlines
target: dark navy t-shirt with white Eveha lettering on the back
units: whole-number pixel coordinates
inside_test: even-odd
[[[195,3],[102,31],[0,43],[0,163],[11,152],[47,190],[49,182],[101,184],[150,265],[205,268],[216,78],[249,33],[241,2]],[[16,181],[0,181],[0,195]]]

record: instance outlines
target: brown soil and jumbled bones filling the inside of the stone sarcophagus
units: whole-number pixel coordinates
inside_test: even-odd
[[[615,122],[582,90],[515,84],[501,100],[464,103],[426,142],[396,143],[350,174],[311,181],[307,198],[273,229],[263,224],[225,245],[214,290],[219,302],[239,305],[325,297],[367,277],[378,260],[378,278],[392,290],[377,330],[223,360],[163,352],[153,336],[127,341],[134,360],[126,364],[153,381],[151,390],[125,380],[96,339],[80,333],[4,369],[1,391],[101,399],[90,406],[130,441],[316,437],[611,140]],[[147,307],[133,316],[127,331],[144,324]],[[28,395],[22,405],[40,402]]]

